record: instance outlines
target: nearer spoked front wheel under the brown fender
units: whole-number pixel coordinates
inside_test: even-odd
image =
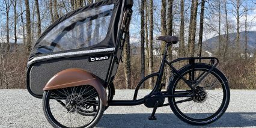
[[[94,127],[105,106],[96,89],[84,85],[45,91],[43,110],[53,127]]]

